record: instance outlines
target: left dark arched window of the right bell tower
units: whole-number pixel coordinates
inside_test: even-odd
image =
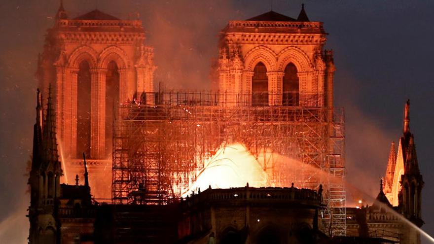
[[[252,77],[252,105],[268,105],[268,76],[264,64],[258,63],[253,70]]]

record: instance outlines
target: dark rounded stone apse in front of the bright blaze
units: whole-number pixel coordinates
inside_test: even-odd
[[[290,188],[207,189],[181,201],[181,243],[317,243],[319,192]],[[189,240],[189,241],[188,241]]]

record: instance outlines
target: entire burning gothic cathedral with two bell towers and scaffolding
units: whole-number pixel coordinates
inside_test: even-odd
[[[72,18],[61,3],[54,22],[36,72],[29,243],[420,244],[410,102],[374,203],[347,207],[333,53],[304,5],[230,20],[200,93],[154,90],[139,19]],[[264,159],[266,180],[188,188],[232,143]]]

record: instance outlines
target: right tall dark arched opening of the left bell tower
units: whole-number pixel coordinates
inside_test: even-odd
[[[111,154],[113,135],[113,108],[119,104],[119,70],[114,61],[106,73],[106,156]]]

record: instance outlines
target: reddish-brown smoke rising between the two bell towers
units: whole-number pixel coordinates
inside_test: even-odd
[[[155,48],[156,89],[208,89],[218,32],[232,6],[228,0],[152,1],[144,17],[147,43]],[[217,21],[216,21],[217,20]]]

